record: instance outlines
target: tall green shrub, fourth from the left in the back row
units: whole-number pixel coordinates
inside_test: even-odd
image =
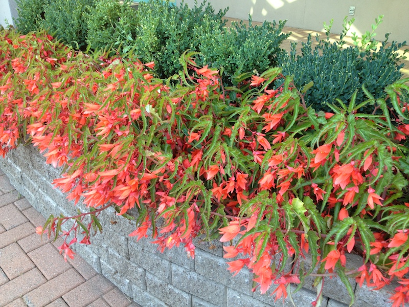
[[[186,50],[198,51],[201,37],[209,25],[221,29],[226,13],[214,9],[208,3],[170,5],[169,1],[152,0],[140,3],[137,15],[139,27],[134,43],[134,53],[144,62],[155,62],[155,71],[161,77],[178,73],[182,68],[179,58]],[[199,30],[201,29],[201,30]]]

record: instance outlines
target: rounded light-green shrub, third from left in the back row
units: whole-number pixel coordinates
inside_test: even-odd
[[[95,8],[86,14],[87,42],[91,49],[107,49],[126,53],[137,31],[136,11],[130,7],[132,0],[123,4],[118,0],[98,0]]]

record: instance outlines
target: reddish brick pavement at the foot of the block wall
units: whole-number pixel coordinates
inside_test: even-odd
[[[64,261],[35,233],[46,220],[0,170],[0,306],[137,307],[79,255]]]

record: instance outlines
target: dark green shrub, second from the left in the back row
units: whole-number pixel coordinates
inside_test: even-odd
[[[94,0],[53,0],[44,6],[44,28],[68,45],[85,49],[87,23],[85,13]]]

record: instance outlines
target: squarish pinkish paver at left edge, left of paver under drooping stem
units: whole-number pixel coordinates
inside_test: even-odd
[[[10,244],[0,250],[0,267],[9,279],[13,279],[35,267],[18,244]]]

